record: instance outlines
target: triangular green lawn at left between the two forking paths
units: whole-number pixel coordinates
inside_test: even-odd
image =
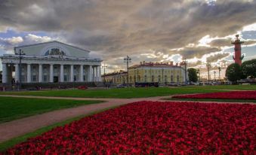
[[[63,108],[99,103],[100,101],[73,101],[64,99],[26,99],[0,97],[0,123],[42,114]]]

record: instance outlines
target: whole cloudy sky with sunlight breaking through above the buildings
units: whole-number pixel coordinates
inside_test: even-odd
[[[62,41],[91,50],[107,71],[123,58],[180,62],[205,71],[233,62],[239,34],[256,58],[256,0],[0,0],[0,55],[14,46]],[[202,73],[204,74],[204,73]]]

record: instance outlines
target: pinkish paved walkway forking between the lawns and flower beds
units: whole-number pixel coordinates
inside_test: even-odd
[[[52,97],[52,96],[16,96],[16,95],[0,95],[8,97],[21,97],[21,98],[36,98],[36,99],[72,99],[72,100],[100,100],[104,101],[99,104],[83,105],[76,108],[66,108],[57,111],[47,112],[45,114],[38,114],[31,117],[25,117],[19,120],[13,120],[7,123],[0,123],[0,143],[8,141],[11,138],[15,138],[20,135],[24,135],[28,132],[33,132],[36,129],[40,129],[43,126],[49,126],[54,123],[58,123],[64,120],[68,120],[72,117],[78,117],[81,115],[91,114],[94,111],[100,111],[106,108],[112,108],[114,106],[125,105],[131,102],[140,101],[164,101],[162,99],[171,98],[171,96],[157,96],[150,98],[137,98],[137,99],[107,99],[107,98],[72,98],[72,97]],[[175,102],[175,101],[171,101]],[[189,102],[189,101],[178,101]],[[220,102],[221,103],[221,102]],[[230,102],[232,104],[241,102]],[[246,102],[248,104],[248,102]],[[253,104],[253,103],[249,103]]]

